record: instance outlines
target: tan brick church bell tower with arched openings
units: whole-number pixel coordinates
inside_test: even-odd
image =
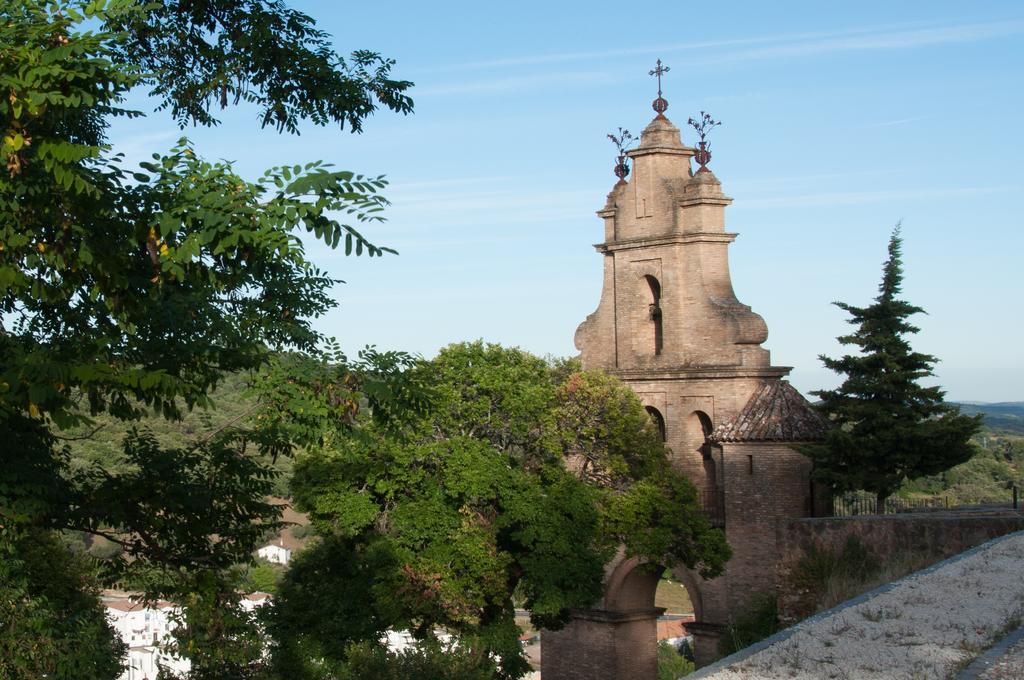
[[[810,461],[792,448],[820,439],[824,424],[782,380],[791,369],[771,365],[764,320],[736,299],[728,260],[736,235],[725,228],[732,199],[707,168],[705,147],[683,144],[667,108],[659,93],[657,116],[627,153],[632,177],[615,184],[597,213],[603,289],[575,345],[584,368],[636,391],[732,547],[719,579],[676,571],[693,600],[697,621],[687,628],[703,664],[717,655],[732,618],[775,588],[780,522],[825,510]],[[545,680],[655,677],[656,578],[635,566],[609,565],[604,600],[563,631],[545,633]]]

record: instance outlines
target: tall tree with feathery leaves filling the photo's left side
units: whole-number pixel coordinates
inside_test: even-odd
[[[124,101],[145,87],[182,125],[213,124],[213,107],[241,99],[279,129],[309,120],[358,130],[378,103],[408,113],[411,83],[392,80],[392,62],[374,53],[335,55],[309,17],[276,1],[0,0],[0,550],[16,569],[38,537],[108,536],[124,548],[114,576],[132,569],[151,597],[206,597],[186,603],[196,626],[184,649],[206,677],[231,677],[234,667],[216,669],[218,645],[249,635],[218,620],[234,597],[231,565],[251,558],[279,515],[263,499],[272,470],[250,456],[246,429],[171,448],[134,433],[119,470],[73,468],[54,429],[102,413],[177,419],[211,406],[228,372],[266,368],[283,350],[317,355],[325,338],[312,324],[333,306],[336,282],[302,239],[384,253],[356,226],[380,219],[385,182],[319,162],[253,181],[184,138],[127,168],[105,131],[115,117],[141,115]],[[390,394],[367,397],[361,385],[353,376],[322,394],[324,417],[343,426],[368,398]],[[272,426],[259,434],[271,455],[295,443]],[[79,565],[51,566],[83,584],[81,598],[65,606],[11,581],[20,595],[5,602],[50,623],[79,621],[76,608],[91,617],[98,603]],[[4,619],[0,646],[50,626],[29,613]],[[52,644],[35,647],[37,668],[112,677],[69,670],[113,650],[99,639],[109,630],[46,630]]]

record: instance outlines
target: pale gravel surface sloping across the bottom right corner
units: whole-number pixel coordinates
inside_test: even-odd
[[[702,680],[949,678],[1024,619],[1024,532],[808,619]],[[1024,663],[1024,648],[1014,648]],[[742,652],[740,652],[742,653]],[[989,680],[1021,678],[1016,673]],[[988,678],[985,676],[986,679]]]

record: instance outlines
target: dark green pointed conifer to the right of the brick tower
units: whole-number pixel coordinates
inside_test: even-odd
[[[932,377],[938,360],[915,352],[906,336],[919,329],[907,320],[924,309],[899,299],[903,282],[899,224],[889,240],[889,259],[874,304],[836,306],[850,313],[857,327],[840,336],[858,354],[819,358],[845,375],[834,390],[814,392],[820,409],[836,427],[825,445],[812,453],[815,474],[835,491],[866,490],[876,495],[881,512],[885,499],[905,479],[936,474],[971,458],[969,443],[981,423],[943,401],[940,387],[920,381]]]

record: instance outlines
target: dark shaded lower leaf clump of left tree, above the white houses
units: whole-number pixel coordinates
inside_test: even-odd
[[[263,535],[281,527],[280,509],[266,500],[272,471],[239,455],[240,447],[228,436],[166,450],[148,434],[132,433],[125,440],[131,471],[112,475],[96,467],[80,477],[77,495],[87,503],[68,512],[67,527],[120,544],[123,570],[166,575],[167,595],[183,571],[249,561]],[[118,530],[104,528],[111,526]]]

